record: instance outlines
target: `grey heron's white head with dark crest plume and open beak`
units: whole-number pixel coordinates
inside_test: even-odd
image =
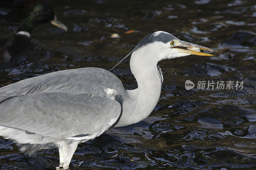
[[[121,63],[130,54],[132,54],[132,56],[142,57],[140,59],[151,63],[157,63],[163,59],[171,59],[192,54],[212,56],[212,54],[200,52],[200,49],[214,51],[201,45],[181,41],[170,33],[157,31],[155,33],[150,33],[143,38],[119,63]],[[116,66],[119,63],[117,63]]]

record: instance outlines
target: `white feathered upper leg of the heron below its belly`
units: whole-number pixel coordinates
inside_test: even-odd
[[[64,142],[62,146],[62,153],[64,155],[64,163],[62,169],[68,169],[69,163],[76,151],[77,145],[80,141]]]

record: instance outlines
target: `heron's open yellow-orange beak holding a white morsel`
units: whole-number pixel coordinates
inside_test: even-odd
[[[213,56],[212,54],[202,53],[200,52],[200,49],[202,50],[208,50],[208,51],[214,51],[210,48],[193,44],[186,41],[179,41],[179,43],[171,48],[178,48],[179,53],[185,53],[185,54],[194,54],[194,55],[204,55],[204,56]]]

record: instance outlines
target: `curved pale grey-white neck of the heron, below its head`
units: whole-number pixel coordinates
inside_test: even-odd
[[[136,56],[134,53],[131,57],[130,67],[138,88],[126,90],[128,97],[124,100],[123,113],[116,127],[145,119],[159,100],[162,83],[158,75],[157,62],[142,61],[140,57],[141,55]]]

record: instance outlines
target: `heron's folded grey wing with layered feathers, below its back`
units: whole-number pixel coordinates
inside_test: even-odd
[[[89,140],[109,129],[120,114],[116,100],[48,92],[2,102],[0,125],[45,137]]]

